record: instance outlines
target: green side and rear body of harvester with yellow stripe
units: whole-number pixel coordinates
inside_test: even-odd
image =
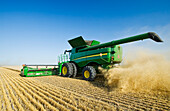
[[[74,53],[71,54],[70,61],[76,63],[78,67],[84,67],[89,63],[97,63],[98,65],[120,63],[122,61],[122,47],[114,46]]]

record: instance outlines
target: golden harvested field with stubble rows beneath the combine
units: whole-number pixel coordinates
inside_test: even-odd
[[[60,76],[21,77],[0,67],[0,111],[169,110],[166,96],[110,91],[103,77],[88,82]]]

